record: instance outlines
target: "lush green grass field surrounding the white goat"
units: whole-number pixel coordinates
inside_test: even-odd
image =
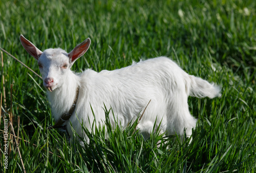
[[[163,55],[187,73],[222,86],[221,98],[189,97],[190,112],[198,118],[191,144],[159,134],[145,141],[134,133],[136,123],[123,132],[106,123],[107,131],[84,129],[91,142],[81,147],[65,133],[46,128],[54,119],[41,79],[3,52],[2,107],[13,114],[26,171],[256,172],[255,10],[254,0],[1,1],[0,47],[37,73],[20,34],[41,50],[67,52],[90,37],[89,51],[73,66],[76,72],[114,70]],[[9,116],[2,113],[0,172],[22,172],[11,142],[5,168],[4,119]]]

